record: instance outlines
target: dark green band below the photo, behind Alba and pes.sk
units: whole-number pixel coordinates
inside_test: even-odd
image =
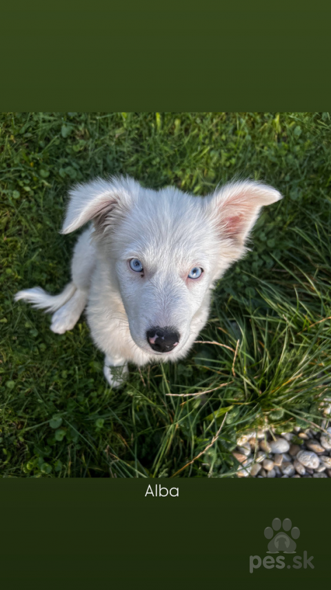
[[[176,486],[179,497],[146,497],[148,484],[153,490]],[[99,588],[104,582],[179,589],[330,582],[328,480],[2,479],[0,495],[6,590],[73,583]],[[274,517],[299,527],[297,555],[312,555],[314,569],[250,573],[250,555],[268,555],[263,531]]]

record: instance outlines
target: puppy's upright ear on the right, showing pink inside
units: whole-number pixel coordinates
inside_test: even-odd
[[[207,197],[206,203],[219,237],[231,241],[237,249],[244,245],[259,217],[261,207],[282,198],[281,193],[261,182],[230,182]],[[230,245],[230,244],[229,244]]]

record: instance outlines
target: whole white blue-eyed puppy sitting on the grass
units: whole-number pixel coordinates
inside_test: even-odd
[[[97,179],[70,191],[62,234],[79,236],[72,281],[57,296],[40,287],[15,299],[55,312],[51,330],[72,330],[87,306],[104,373],[119,386],[138,366],[188,354],[208,318],[215,282],[246,251],[263,205],[281,198],[259,182],[232,182],[205,198],[145,189],[131,178]]]

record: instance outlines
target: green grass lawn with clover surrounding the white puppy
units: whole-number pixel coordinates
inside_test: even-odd
[[[321,424],[331,365],[328,113],[8,113],[0,122],[3,477],[231,477],[239,432]],[[59,336],[50,316],[12,298],[66,285],[76,240],[58,233],[66,191],[114,173],[199,195],[240,175],[284,196],[214,292],[199,340],[216,343],[141,374],[130,366],[119,391],[106,386],[83,316]]]

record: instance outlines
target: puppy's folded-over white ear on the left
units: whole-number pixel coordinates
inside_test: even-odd
[[[77,184],[70,200],[61,234],[70,234],[90,220],[97,228],[110,225],[113,218],[127,213],[137,198],[140,185],[132,178],[110,178]]]

